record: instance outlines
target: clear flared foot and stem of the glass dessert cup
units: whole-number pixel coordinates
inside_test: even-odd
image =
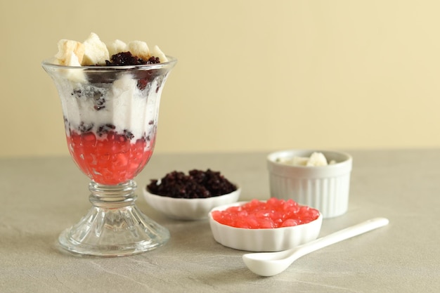
[[[134,181],[117,186],[92,182],[89,189],[93,207],[79,223],[60,234],[61,247],[79,254],[125,256],[164,245],[169,231],[136,207],[135,188]]]

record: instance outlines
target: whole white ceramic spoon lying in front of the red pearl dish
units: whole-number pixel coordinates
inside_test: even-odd
[[[356,235],[361,235],[370,230],[386,226],[388,223],[388,219],[385,218],[370,219],[292,249],[287,249],[282,252],[244,254],[242,259],[247,268],[252,272],[264,277],[270,277],[283,272],[301,256]]]

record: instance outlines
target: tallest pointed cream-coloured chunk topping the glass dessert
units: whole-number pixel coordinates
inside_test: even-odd
[[[105,60],[110,59],[107,46],[97,34],[92,32],[84,41],[84,46],[84,58],[81,63],[83,66],[105,65]]]

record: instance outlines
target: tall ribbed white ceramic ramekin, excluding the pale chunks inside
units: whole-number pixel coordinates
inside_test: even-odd
[[[293,166],[278,159],[310,157],[322,152],[328,164],[319,167]],[[324,218],[347,212],[352,167],[351,155],[329,150],[282,150],[267,157],[271,197],[292,199],[299,204],[318,209]]]

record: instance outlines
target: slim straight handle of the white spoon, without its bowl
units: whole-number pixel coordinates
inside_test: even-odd
[[[374,230],[383,226],[387,226],[389,220],[386,218],[374,218],[368,221],[364,221],[362,223],[358,223],[354,226],[350,226],[349,228],[345,228],[339,230],[330,235],[318,238],[311,242],[308,242],[304,245],[301,245],[295,249],[295,259],[299,259],[299,257],[309,254],[310,252],[314,252],[323,247],[327,247],[329,245],[335,244],[342,240],[349,239],[351,237],[361,235],[370,230]]]

